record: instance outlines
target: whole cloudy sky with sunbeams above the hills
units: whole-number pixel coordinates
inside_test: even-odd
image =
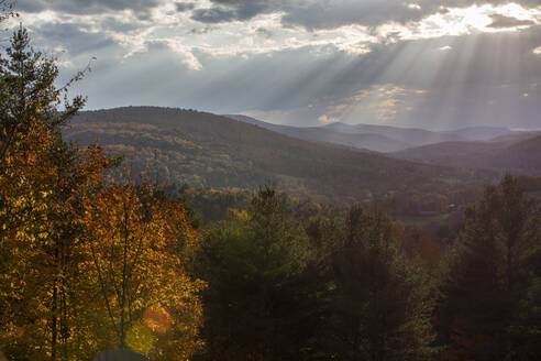
[[[541,128],[541,0],[18,0],[86,109]]]

